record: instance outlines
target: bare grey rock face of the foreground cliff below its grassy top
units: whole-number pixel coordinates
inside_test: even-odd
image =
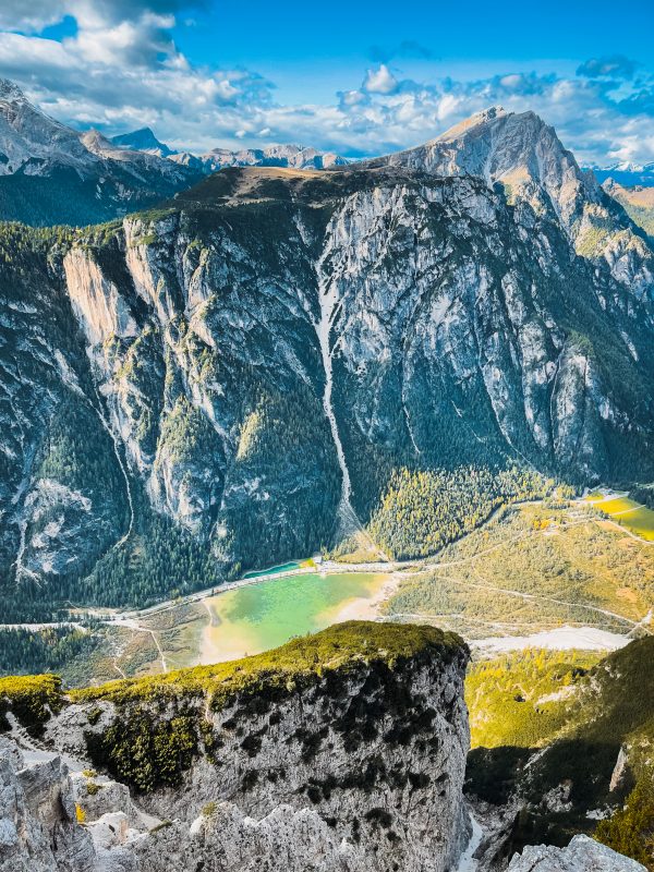
[[[397,863],[443,872],[460,848],[465,818],[461,665],[457,659],[393,670],[372,664],[347,678],[327,677],[265,713],[257,713],[257,700],[229,705],[211,719],[215,762],[201,760],[182,790],[155,792],[143,804],[159,818],[191,822],[208,800],[228,803],[216,820],[201,816],[193,829],[209,852],[228,857],[232,839],[247,837],[246,816],[266,822],[255,829],[257,838],[280,828],[276,838],[282,841],[284,829],[306,826],[314,833],[306,850],[314,856],[347,843],[335,857],[342,855],[350,870]],[[169,846],[178,840],[174,833],[162,838]],[[180,868],[196,851],[192,839],[179,852]],[[291,845],[284,851],[291,868],[311,868],[304,849]],[[156,857],[156,841],[144,852]]]

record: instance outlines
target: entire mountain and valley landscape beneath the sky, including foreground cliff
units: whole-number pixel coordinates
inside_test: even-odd
[[[195,156],[0,83],[3,872],[654,869],[629,181],[531,111]]]

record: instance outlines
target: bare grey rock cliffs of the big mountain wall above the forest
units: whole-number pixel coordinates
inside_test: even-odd
[[[112,293],[111,284],[93,253],[85,255],[86,275],[97,289],[73,275],[78,252],[65,262],[116,426],[157,505],[181,523],[207,531],[211,506],[215,517],[229,513],[241,493],[266,500],[262,476],[230,481],[228,473],[234,461],[240,465],[240,440],[256,422],[235,408],[238,368],[255,373],[259,384],[306,389],[319,414],[325,330],[355,502],[363,499],[356,467],[366,455],[390,450],[398,460],[438,464],[440,439],[452,431],[463,456],[472,428],[499,456],[521,452],[541,468],[560,464],[593,477],[610,470],[608,434],[641,429],[580,339],[588,326],[581,310],[591,308],[591,320],[616,322],[613,329],[623,325],[617,350],[628,367],[634,354],[644,364],[650,311],[608,274],[571,265],[566,234],[524,202],[508,210],[501,196],[469,178],[385,179],[337,202],[324,229],[312,228],[303,208],[279,216],[288,238],[271,263],[265,255],[263,269],[253,247],[261,240],[242,237],[227,213],[225,221],[217,218],[202,242],[183,216],[124,222],[114,256],[125,295],[111,306],[124,325],[114,315],[107,319],[102,347],[97,300]],[[269,229],[255,222],[259,232]],[[132,327],[136,304],[145,306],[140,340]],[[181,415],[165,378],[199,412],[206,465],[179,462],[168,445],[166,422]],[[336,465],[329,441],[326,434]]]

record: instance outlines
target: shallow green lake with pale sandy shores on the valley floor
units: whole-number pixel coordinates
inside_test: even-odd
[[[371,616],[387,576],[317,573],[270,579],[205,600],[211,626],[202,662],[218,663],[281,645],[338,620]]]

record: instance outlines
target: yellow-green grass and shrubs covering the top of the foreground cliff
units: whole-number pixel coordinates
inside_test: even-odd
[[[405,691],[398,694],[397,686],[402,680],[396,680],[395,673],[399,674],[410,661],[433,664],[458,658],[462,668],[465,656],[463,641],[453,633],[431,627],[350,621],[254,657],[181,669],[156,678],[113,681],[73,692],[71,698],[82,703],[101,701],[117,706],[111,724],[102,730],[85,731],[88,754],[94,765],[109,771],[138,792],[148,792],[179,785],[202,752],[209,762],[220,765],[223,738],[208,719],[209,710],[220,711],[234,704],[229,713],[230,725],[225,720],[223,729],[241,730],[237,734],[245,735],[241,747],[255,756],[261,738],[259,732],[252,732],[253,716],[262,715],[293,693],[317,686],[322,679],[325,683],[320,692],[335,700],[348,699],[348,676],[364,669],[366,674],[376,673],[383,682],[386,707],[396,704],[397,711],[389,708],[389,717],[395,732],[402,737],[412,735],[414,720],[420,720],[421,705],[412,698],[407,702]],[[205,698],[206,705],[202,704]],[[399,706],[398,699],[402,701]],[[90,727],[99,711],[98,706],[89,707]],[[375,714],[363,706],[363,716],[365,735],[370,738],[376,726],[367,722],[374,722]],[[363,740],[359,738],[364,735],[363,727],[359,730],[354,722],[346,727],[349,741]],[[304,732],[311,737],[311,725]],[[395,740],[403,741],[397,737]],[[306,753],[313,747],[308,739],[307,742]],[[258,772],[254,775],[258,777]],[[251,776],[252,773],[243,776],[242,789],[249,789]]]

